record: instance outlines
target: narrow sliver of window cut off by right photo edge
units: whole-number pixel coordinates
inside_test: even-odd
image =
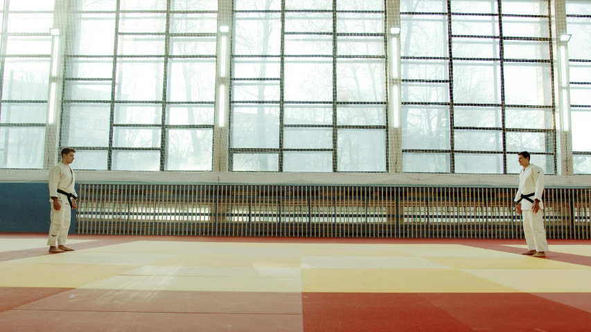
[[[572,162],[575,174],[591,174],[591,2],[567,0],[570,58]]]

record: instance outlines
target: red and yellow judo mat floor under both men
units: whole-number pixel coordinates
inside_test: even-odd
[[[0,233],[0,331],[591,331],[591,241]]]

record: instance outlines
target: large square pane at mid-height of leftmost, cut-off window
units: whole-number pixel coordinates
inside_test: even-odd
[[[49,59],[4,59],[3,100],[47,100]]]

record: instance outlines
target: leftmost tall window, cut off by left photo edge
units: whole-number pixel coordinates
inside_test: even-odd
[[[54,3],[5,0],[0,4],[0,168],[41,169]]]

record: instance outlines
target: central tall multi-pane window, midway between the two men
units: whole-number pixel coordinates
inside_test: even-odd
[[[385,172],[385,1],[234,6],[231,170]]]

